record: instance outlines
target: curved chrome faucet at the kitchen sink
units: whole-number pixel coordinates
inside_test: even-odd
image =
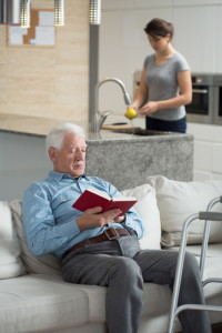
[[[105,121],[107,117],[112,113],[112,111],[104,111],[102,113],[100,113],[100,111],[98,110],[98,101],[99,101],[99,88],[105,83],[105,82],[109,82],[109,81],[112,81],[112,82],[115,82],[118,83],[121,89],[122,89],[122,92],[123,92],[123,97],[124,97],[124,101],[125,101],[125,104],[127,105],[130,105],[132,103],[131,101],[131,98],[129,95],[129,93],[127,92],[127,89],[123,84],[123,82],[120,80],[120,79],[117,79],[117,78],[105,78],[105,79],[102,79],[101,81],[99,81],[95,85],[95,98],[94,98],[94,130],[97,133],[100,132],[100,129],[103,124],[103,122]]]

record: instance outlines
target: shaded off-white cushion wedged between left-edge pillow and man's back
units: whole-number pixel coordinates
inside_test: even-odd
[[[53,254],[33,256],[27,245],[21,222],[21,201],[10,202],[12,220],[21,245],[21,258],[28,273],[37,274],[61,274],[59,259]]]

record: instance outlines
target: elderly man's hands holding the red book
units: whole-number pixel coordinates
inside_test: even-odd
[[[121,214],[121,210],[119,209],[110,210],[103,213],[101,211],[101,206],[94,206],[85,210],[82,215],[77,219],[79,230],[82,231],[89,228],[103,226],[108,222],[121,223],[124,220],[124,216],[118,216]]]

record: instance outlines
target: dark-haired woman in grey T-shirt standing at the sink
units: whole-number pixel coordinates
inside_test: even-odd
[[[153,19],[144,29],[154,53],[144,61],[140,85],[131,108],[147,117],[147,129],[185,133],[185,104],[192,100],[186,60],[171,43],[173,26]]]

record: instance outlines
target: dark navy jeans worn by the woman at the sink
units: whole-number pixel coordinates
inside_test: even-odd
[[[185,133],[186,117],[183,117],[182,119],[179,119],[179,120],[171,120],[171,121],[147,117],[145,118],[145,128],[147,128],[147,130]]]

